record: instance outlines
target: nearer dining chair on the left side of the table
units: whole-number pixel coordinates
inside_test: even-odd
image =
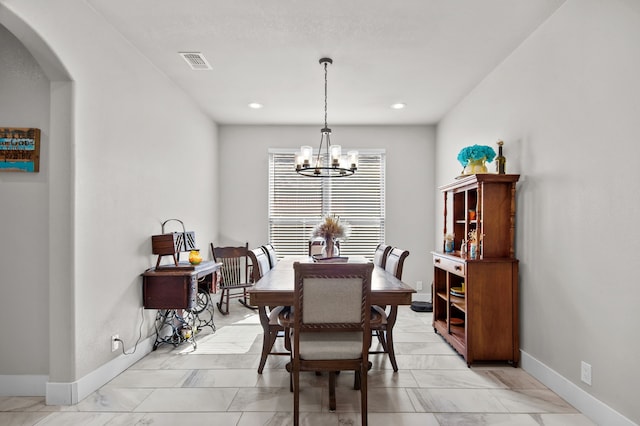
[[[253,282],[257,282],[264,274],[271,269],[269,256],[263,247],[249,250],[249,259],[253,265]],[[260,364],[258,365],[258,373],[262,374],[264,366],[267,363],[269,355],[289,355],[289,352],[274,351],[273,347],[278,337],[284,338],[285,329],[278,322],[278,316],[284,310],[283,306],[259,307],[260,324],[262,324],[262,354],[260,355]]]

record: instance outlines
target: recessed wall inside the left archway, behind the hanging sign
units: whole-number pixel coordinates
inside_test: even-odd
[[[0,127],[35,127],[43,136],[39,173],[0,173],[0,376],[49,371],[49,103],[49,79],[0,25]]]

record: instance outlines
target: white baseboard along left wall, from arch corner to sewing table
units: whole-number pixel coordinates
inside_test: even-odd
[[[155,335],[140,342],[135,353],[131,355],[120,354],[106,364],[101,365],[80,380],[70,383],[47,382],[47,405],[75,405],[100,389],[118,374],[131,367],[144,358],[153,349]]]

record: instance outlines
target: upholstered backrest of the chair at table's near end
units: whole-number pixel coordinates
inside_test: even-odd
[[[373,264],[295,262],[293,269],[294,332],[363,331],[368,353]],[[298,350],[294,347],[294,353]]]

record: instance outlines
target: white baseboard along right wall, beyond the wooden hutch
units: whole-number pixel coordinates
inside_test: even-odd
[[[521,351],[520,362],[524,371],[560,395],[593,422],[607,426],[638,426],[637,423],[632,422],[525,351]]]

